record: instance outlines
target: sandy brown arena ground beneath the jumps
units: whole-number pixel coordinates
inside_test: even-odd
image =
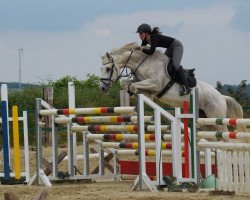
[[[65,149],[60,149],[60,151]],[[82,151],[82,147],[78,148],[78,152]],[[49,159],[51,156],[51,148],[45,148],[43,155]],[[23,160],[23,159],[22,159]],[[60,164],[60,170],[67,170],[67,162]],[[94,168],[97,160],[91,163]],[[30,167],[31,175],[35,171],[35,151],[30,151]],[[79,163],[82,166],[82,163]],[[80,167],[79,167],[80,168]],[[112,179],[95,180],[90,183],[74,182],[74,183],[53,183],[52,187],[44,186],[27,186],[27,185],[1,185],[0,199],[4,199],[5,192],[14,192],[21,200],[33,199],[35,195],[42,190],[47,191],[47,199],[63,200],[63,199],[168,199],[168,200],[249,200],[250,195],[235,195],[235,196],[212,196],[208,192],[165,192],[158,193],[150,191],[131,191],[130,187],[133,181],[114,181]]]

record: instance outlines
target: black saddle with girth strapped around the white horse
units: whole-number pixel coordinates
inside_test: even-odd
[[[196,86],[196,78],[195,78],[194,70],[195,70],[194,68],[184,69],[185,76],[186,76],[185,78],[187,79],[188,86],[191,88]],[[174,83],[179,83],[180,85],[182,85],[180,78],[178,77],[178,73],[176,72],[176,69],[173,66],[172,59],[169,61],[166,71],[168,75],[170,76],[170,81],[163,88],[163,90],[159,94],[156,95],[158,98],[161,98],[161,96],[164,95],[169,90],[169,88],[171,88],[172,85],[174,85]]]

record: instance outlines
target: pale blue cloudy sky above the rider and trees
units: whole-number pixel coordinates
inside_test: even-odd
[[[141,23],[180,40],[198,80],[250,82],[250,0],[0,0],[0,82],[20,64],[25,83],[99,76],[101,55],[141,43]]]

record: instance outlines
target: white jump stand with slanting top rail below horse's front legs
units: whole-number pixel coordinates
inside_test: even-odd
[[[156,159],[156,181],[151,181],[146,173],[146,160],[145,160],[145,121],[144,121],[144,104],[147,104],[154,109],[154,122],[155,122],[155,159]],[[179,109],[180,110],[180,109]],[[155,104],[152,100],[148,99],[142,94],[138,95],[138,155],[139,155],[139,176],[134,181],[132,190],[137,188],[142,189],[145,186],[152,192],[158,192],[156,186],[166,184],[162,177],[162,153],[161,153],[161,116],[165,117],[171,122],[172,132],[172,148],[174,155],[173,174],[179,179],[181,177],[181,124],[180,118],[172,116],[163,108]]]

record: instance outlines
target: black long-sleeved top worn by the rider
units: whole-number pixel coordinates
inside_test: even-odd
[[[160,35],[160,34],[150,34],[151,46],[150,49],[143,49],[142,52],[148,55],[152,55],[155,52],[156,47],[168,48],[174,41],[174,38]],[[149,42],[145,39],[142,41],[141,46],[146,46]]]

